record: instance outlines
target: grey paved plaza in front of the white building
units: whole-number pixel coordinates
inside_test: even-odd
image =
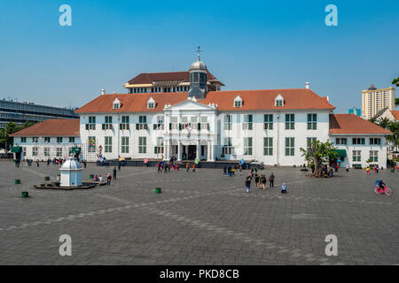
[[[374,172],[312,179],[274,167],[262,173],[275,173],[276,188],[252,184],[249,194],[248,171],[223,177],[215,169],[122,167],[111,187],[33,187],[58,169],[0,162],[0,264],[399,264],[398,172],[378,175],[391,197],[374,194]],[[88,164],[83,179],[112,169]],[[72,256],[59,256],[61,234],[71,236]],[[338,256],[325,255],[329,234]]]

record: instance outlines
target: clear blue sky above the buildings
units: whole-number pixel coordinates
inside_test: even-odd
[[[72,27],[59,26],[59,6]],[[338,7],[338,27],[325,6]],[[82,106],[138,73],[202,60],[225,90],[310,88],[348,112],[399,76],[398,1],[0,2],[0,97]]]

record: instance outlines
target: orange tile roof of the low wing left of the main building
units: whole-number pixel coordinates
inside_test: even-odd
[[[48,119],[11,136],[78,136],[79,119]]]

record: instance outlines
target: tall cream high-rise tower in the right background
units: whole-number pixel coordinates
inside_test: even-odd
[[[384,108],[395,110],[395,88],[375,88],[362,91],[362,116],[371,119]]]

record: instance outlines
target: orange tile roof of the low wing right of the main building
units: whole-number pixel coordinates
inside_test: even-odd
[[[392,134],[355,114],[331,114],[330,134]]]

